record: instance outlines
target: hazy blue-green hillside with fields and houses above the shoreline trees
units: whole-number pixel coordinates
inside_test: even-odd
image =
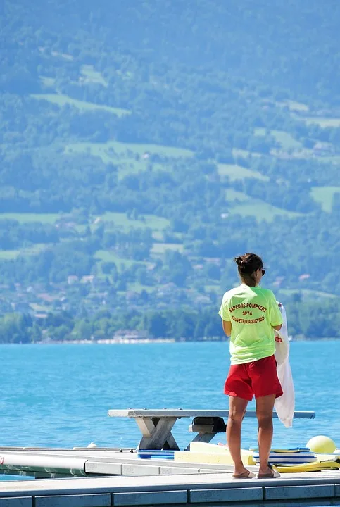
[[[245,251],[284,302],[339,296],[339,21],[336,0],[2,0],[1,313],[215,312]]]

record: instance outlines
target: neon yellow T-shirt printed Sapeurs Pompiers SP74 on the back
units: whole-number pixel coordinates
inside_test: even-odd
[[[225,293],[218,313],[232,322],[232,364],[251,363],[275,353],[272,326],[282,324],[282,315],[271,290],[241,284]]]

